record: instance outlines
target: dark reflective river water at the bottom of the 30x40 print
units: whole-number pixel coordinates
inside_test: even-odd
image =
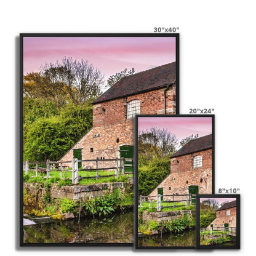
[[[132,243],[133,212],[23,227],[25,243]]]

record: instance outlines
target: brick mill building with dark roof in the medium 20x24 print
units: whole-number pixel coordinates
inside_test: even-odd
[[[173,154],[170,157],[170,175],[149,196],[198,193],[212,193],[211,134],[191,140]]]

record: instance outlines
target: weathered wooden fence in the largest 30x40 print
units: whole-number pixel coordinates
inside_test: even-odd
[[[99,162],[114,162],[113,167],[98,167]],[[95,162],[96,168],[94,169],[78,169],[78,162]],[[132,162],[132,164],[124,164],[124,162]],[[30,169],[29,165],[33,164],[35,165],[35,169]],[[72,169],[68,169],[64,166],[64,164],[71,164]],[[41,168],[39,165],[44,165],[46,168]],[[60,178],[63,178],[63,172],[72,172],[72,178],[68,178],[72,180],[72,183],[74,185],[78,184],[79,180],[83,178],[103,178],[103,177],[111,177],[115,176],[118,178],[119,176],[119,170],[121,170],[121,175],[125,174],[131,174],[130,172],[125,171],[126,166],[134,166],[134,160],[132,158],[115,158],[115,159],[84,159],[84,160],[78,160],[77,158],[73,158],[71,161],[50,161],[47,159],[45,162],[29,162],[28,160],[26,162],[23,162],[23,170],[25,171],[25,174],[28,174],[28,172],[35,172],[34,177],[38,177],[38,172],[46,172],[45,178],[50,178],[50,172],[60,172]],[[81,177],[79,176],[79,172],[85,172],[85,171],[96,171],[95,176],[89,176],[89,177]],[[115,174],[110,175],[98,175],[99,170],[114,170]],[[132,168],[134,170],[134,168]]]

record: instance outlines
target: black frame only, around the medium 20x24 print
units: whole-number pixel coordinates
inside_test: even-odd
[[[174,115],[136,115],[135,122],[135,162],[136,162],[136,175],[135,175],[135,249],[196,249],[195,246],[138,246],[138,118],[211,118],[212,119],[212,191],[214,193],[215,187],[215,115],[214,114],[174,114]]]

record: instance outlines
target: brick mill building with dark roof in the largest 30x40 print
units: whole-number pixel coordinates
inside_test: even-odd
[[[126,76],[92,104],[92,129],[60,161],[132,158],[135,114],[175,114],[176,63]]]

